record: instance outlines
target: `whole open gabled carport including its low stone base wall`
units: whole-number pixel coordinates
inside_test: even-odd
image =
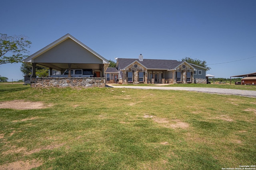
[[[64,35],[50,45],[32,54],[24,62],[32,64],[30,82],[35,86],[105,86],[105,71],[109,66],[108,60],[70,34]],[[51,77],[36,78],[36,65],[48,68],[50,76],[55,71],[59,71],[62,74],[68,69],[70,80]],[[71,69],[92,69],[98,79],[94,77],[80,77],[74,80],[71,78]],[[62,82],[62,84],[58,82]]]

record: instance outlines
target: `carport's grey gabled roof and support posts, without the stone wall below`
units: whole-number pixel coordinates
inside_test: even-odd
[[[71,69],[92,69],[100,72],[100,77],[105,78],[106,69],[109,66],[108,60],[84,45],[70,34],[47,45],[24,60],[32,64],[32,76],[36,78],[36,66],[42,66],[50,70],[57,70],[63,73],[69,69],[68,77],[71,77]],[[35,80],[35,79],[34,79]],[[50,81],[50,80],[49,80]]]

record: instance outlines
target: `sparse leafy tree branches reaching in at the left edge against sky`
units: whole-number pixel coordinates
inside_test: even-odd
[[[28,57],[31,42],[23,35],[8,36],[0,33],[0,64],[20,63]],[[26,55],[27,54],[27,55]]]

